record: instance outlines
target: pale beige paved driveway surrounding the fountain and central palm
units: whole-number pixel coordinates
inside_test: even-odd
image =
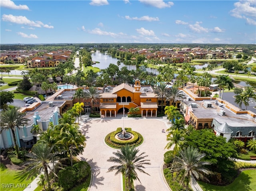
[[[161,172],[164,153],[167,151],[164,147],[167,144],[166,133],[162,133],[162,129],[166,131],[169,125],[167,120],[149,119],[149,118],[104,118],[95,119],[90,122],[80,122],[80,128],[86,136],[86,148],[79,157],[87,161],[92,168],[92,180],[90,191],[120,191],[122,190],[121,174],[114,175],[115,172],[107,172],[108,168],[114,163],[108,162],[110,156],[114,156],[116,149],[110,148],[104,142],[105,136],[115,131],[118,127],[130,127],[132,130],[142,134],[144,142],[137,148],[139,154],[145,152],[148,155],[146,159],[150,159],[151,165],[145,166],[144,173],[138,173],[141,181],[134,181],[136,191],[169,191],[164,177]]]

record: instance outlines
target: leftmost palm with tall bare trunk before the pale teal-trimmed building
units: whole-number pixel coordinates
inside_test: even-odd
[[[25,126],[28,124],[29,119],[25,118],[26,113],[22,113],[19,111],[18,108],[12,107],[7,108],[7,110],[4,110],[0,115],[0,126],[1,130],[0,133],[2,133],[3,130],[11,130],[13,142],[15,146],[15,150],[17,153],[17,157],[20,158],[19,154],[19,147],[16,140],[16,128],[20,128],[20,126]]]

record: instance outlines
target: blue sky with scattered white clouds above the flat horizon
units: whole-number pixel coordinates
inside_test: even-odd
[[[255,0],[0,1],[1,43],[256,43]]]

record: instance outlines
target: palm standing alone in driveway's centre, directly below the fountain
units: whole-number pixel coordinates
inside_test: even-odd
[[[142,152],[137,156],[138,152],[138,149],[130,147],[129,145],[125,145],[121,148],[120,151],[118,150],[117,152],[113,152],[116,157],[112,156],[108,159],[108,162],[118,163],[117,165],[111,166],[108,169],[108,172],[116,171],[115,175],[122,173],[122,175],[128,179],[129,191],[131,190],[131,184],[133,180],[137,179],[140,181],[136,170],[149,175],[143,169],[145,168],[144,165],[151,164],[148,162],[150,160],[145,159],[147,155],[143,156],[145,152]]]

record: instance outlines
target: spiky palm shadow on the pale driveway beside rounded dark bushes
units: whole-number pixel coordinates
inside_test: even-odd
[[[91,167],[91,171],[92,171],[92,180],[91,180],[91,185],[90,187],[94,186],[96,187],[96,189],[98,189],[97,185],[104,185],[102,183],[102,181],[105,179],[103,176],[98,177],[100,175],[100,167],[98,167],[97,162],[93,162],[93,159],[85,159],[83,157],[81,157],[81,159],[83,161],[86,161],[90,167]]]

